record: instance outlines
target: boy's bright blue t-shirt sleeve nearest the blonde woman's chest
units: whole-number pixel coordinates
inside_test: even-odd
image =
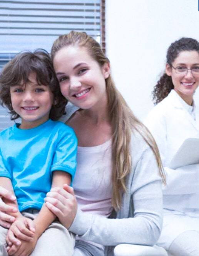
[[[60,129],[58,138],[51,171],[66,171],[73,180],[77,166],[77,137],[73,129],[65,125]]]

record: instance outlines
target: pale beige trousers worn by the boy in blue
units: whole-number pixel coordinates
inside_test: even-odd
[[[32,212],[32,213],[31,213]],[[37,210],[22,212],[24,217],[34,219]],[[8,229],[0,227],[0,256],[8,256],[5,248]],[[75,237],[59,221],[55,220],[39,237],[34,251],[30,256],[72,256],[74,253]]]

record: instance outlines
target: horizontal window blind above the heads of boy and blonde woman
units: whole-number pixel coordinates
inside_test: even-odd
[[[0,67],[23,50],[49,52],[71,30],[100,42],[100,0],[0,0]]]

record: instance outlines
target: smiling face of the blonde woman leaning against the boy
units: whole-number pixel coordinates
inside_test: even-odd
[[[71,103],[90,109],[106,102],[108,63],[100,67],[85,47],[67,46],[55,54],[53,65],[61,92]]]

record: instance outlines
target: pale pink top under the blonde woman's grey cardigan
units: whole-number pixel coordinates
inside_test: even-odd
[[[105,217],[110,215],[111,172],[111,139],[99,146],[78,147],[73,187],[78,206],[83,212]]]

